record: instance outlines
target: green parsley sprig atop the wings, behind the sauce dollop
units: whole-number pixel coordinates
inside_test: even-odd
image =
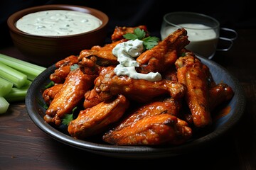
[[[123,36],[127,40],[136,40],[136,39],[142,40],[146,50],[150,50],[152,47],[158,45],[158,42],[159,42],[159,38],[157,37],[148,36],[145,38],[146,32],[144,30],[141,30],[140,28],[135,28],[134,33],[127,33]]]

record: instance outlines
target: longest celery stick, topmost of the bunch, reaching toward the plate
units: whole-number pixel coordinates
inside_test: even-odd
[[[41,72],[43,72],[46,67],[41,67],[30,62],[25,62],[23,60],[18,60],[14,57],[9,57],[7,55],[0,54],[0,62],[17,69],[18,71],[26,74],[28,79],[34,80]]]

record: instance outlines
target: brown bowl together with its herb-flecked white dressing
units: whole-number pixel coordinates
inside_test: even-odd
[[[87,6],[43,5],[9,16],[14,45],[28,62],[49,67],[94,45],[104,45],[108,16]]]

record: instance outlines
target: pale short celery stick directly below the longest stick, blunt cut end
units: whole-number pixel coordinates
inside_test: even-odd
[[[0,77],[6,79],[14,84],[14,86],[21,88],[27,80],[26,74],[18,72],[6,64],[0,62]]]

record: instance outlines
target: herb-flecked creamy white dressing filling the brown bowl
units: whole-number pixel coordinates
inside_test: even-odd
[[[16,22],[16,28],[33,35],[75,35],[102,25],[90,13],[69,10],[48,10],[29,13]]]

